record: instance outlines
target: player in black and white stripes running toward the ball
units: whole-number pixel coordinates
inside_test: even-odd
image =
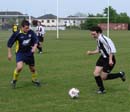
[[[87,51],[87,54],[101,54],[101,56],[96,62],[96,67],[93,73],[97,86],[99,87],[97,93],[102,94],[105,93],[103,80],[121,78],[122,81],[125,81],[126,78],[125,73],[123,71],[118,73],[111,73],[112,69],[116,64],[116,59],[114,55],[116,53],[116,48],[113,41],[103,35],[102,29],[98,26],[92,27],[90,31],[92,37],[97,41],[97,49],[93,51]]]

